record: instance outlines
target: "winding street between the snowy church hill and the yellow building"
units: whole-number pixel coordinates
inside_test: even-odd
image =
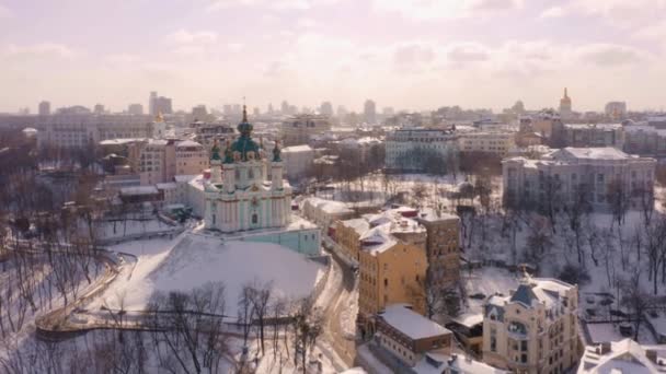
[[[354,291],[357,287],[357,278],[335,250],[329,250],[329,253],[333,260],[331,264],[333,277],[331,279],[332,282],[335,282],[335,292],[324,309],[324,340],[331,344],[338,358],[351,367],[354,366],[356,361],[356,341],[345,337],[341,323],[343,320],[342,313],[348,307],[351,297],[356,296]],[[352,323],[355,323],[355,320]]]

